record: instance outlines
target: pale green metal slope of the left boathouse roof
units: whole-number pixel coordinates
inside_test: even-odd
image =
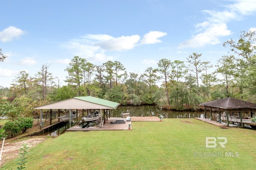
[[[84,100],[86,102],[91,102],[91,103],[94,103],[94,104],[99,104],[99,105],[103,105],[103,106],[112,107],[114,109],[119,106],[119,103],[111,102],[111,101],[100,99],[100,98],[95,98],[95,97],[92,97],[92,96],[82,96],[82,97],[74,97],[74,98],[79,99],[79,100]]]

